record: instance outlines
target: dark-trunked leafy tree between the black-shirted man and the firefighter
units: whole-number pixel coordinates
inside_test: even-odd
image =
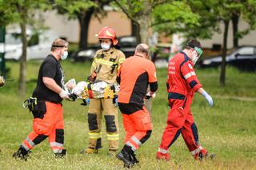
[[[103,6],[110,0],[56,0],[54,8],[59,14],[67,14],[69,18],[78,18],[80,25],[79,49],[86,49],[88,45],[88,32],[90,19],[95,16],[100,20],[103,14]]]

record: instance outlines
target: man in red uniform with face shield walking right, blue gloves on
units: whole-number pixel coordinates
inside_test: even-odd
[[[186,43],[185,49],[169,61],[166,84],[170,111],[156,156],[158,160],[170,160],[168,149],[180,133],[195,160],[207,156],[206,149],[198,143],[198,129],[190,111],[194,92],[201,93],[209,102],[210,107],[214,105],[210,95],[202,89],[194,72],[194,64],[202,54],[201,48],[200,42],[190,40]]]

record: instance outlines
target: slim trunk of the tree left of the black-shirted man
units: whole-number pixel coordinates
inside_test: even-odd
[[[24,20],[23,20],[24,21]],[[18,91],[19,94],[24,97],[26,95],[26,22],[21,22],[20,27],[22,30],[22,57],[20,58],[20,67],[19,67],[19,82],[18,82]]]

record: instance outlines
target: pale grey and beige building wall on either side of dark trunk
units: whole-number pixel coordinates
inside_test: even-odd
[[[60,37],[67,38],[69,42],[78,42],[80,26],[77,19],[69,20],[65,15],[57,14],[56,11],[47,11],[43,14],[45,25],[54,30]],[[98,39],[95,34],[104,26],[111,26],[116,31],[117,36],[131,34],[131,22],[122,12],[108,11],[106,16],[101,19],[92,18],[89,26],[89,43],[96,43]]]

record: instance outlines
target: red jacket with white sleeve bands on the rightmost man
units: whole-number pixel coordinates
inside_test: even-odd
[[[170,59],[168,64],[167,90],[173,97],[194,95],[202,87],[193,68],[193,62],[186,53],[178,53]]]

